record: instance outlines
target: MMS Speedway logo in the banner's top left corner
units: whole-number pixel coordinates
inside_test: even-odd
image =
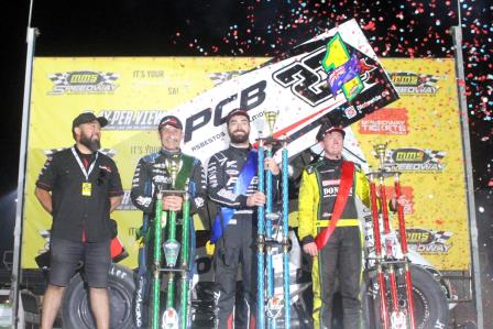
[[[74,70],[48,75],[53,89],[48,95],[107,94],[118,88],[119,75],[111,72]]]

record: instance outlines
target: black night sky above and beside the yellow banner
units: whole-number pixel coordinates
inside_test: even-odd
[[[458,11],[460,7],[460,12]],[[36,56],[274,56],[357,19],[379,57],[452,57],[462,24],[480,244],[493,241],[493,4],[487,0],[35,1]],[[1,1],[0,196],[17,188],[29,2]],[[46,129],[53,129],[46,127]],[[12,195],[10,195],[12,198]],[[0,202],[1,248],[14,216]],[[11,209],[11,208],[9,208]],[[486,222],[487,221],[487,222]],[[492,259],[491,254],[487,256]],[[493,261],[490,261],[493,263]]]

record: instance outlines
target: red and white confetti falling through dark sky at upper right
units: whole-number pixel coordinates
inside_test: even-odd
[[[354,18],[379,57],[450,58],[456,51],[450,31],[461,25],[465,79],[458,84],[465,88],[471,140],[492,147],[492,130],[487,128],[493,123],[492,10],[487,1],[475,0],[241,1],[235,15],[204,13],[210,17],[205,21],[227,24],[204,24],[204,19],[191,12],[173,43],[188,45],[191,55],[198,56],[273,57]],[[190,33],[190,26],[200,29]],[[493,173],[484,165],[484,154],[472,156],[476,179],[482,177],[480,186],[491,188],[485,182]]]

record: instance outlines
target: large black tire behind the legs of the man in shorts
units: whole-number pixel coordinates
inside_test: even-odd
[[[124,266],[111,264],[108,293],[110,299],[110,328],[132,329],[132,300],[135,290],[134,273]],[[75,275],[65,290],[62,309],[64,328],[96,328],[89,307],[89,288],[80,274]]]

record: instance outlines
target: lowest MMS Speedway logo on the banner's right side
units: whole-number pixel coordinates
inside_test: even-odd
[[[447,253],[452,244],[449,239],[453,232],[412,228],[406,230],[409,249],[419,253]]]

